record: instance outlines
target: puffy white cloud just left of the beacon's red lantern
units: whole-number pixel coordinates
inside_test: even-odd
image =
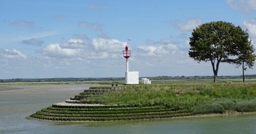
[[[105,52],[121,52],[126,46],[127,42],[121,42],[117,39],[103,39],[103,38],[93,38],[92,45],[97,51]]]

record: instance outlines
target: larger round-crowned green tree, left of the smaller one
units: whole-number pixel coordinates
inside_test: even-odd
[[[190,38],[189,56],[195,61],[210,61],[217,82],[219,64],[230,61],[235,56],[238,42],[236,38],[245,36],[245,32],[237,32],[241,27],[232,23],[214,21],[196,27]],[[242,29],[241,29],[242,30]]]

